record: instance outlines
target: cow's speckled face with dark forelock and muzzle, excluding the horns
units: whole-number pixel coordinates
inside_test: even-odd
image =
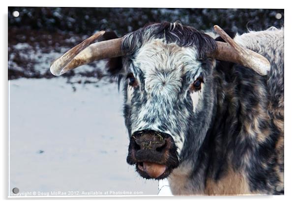
[[[126,35],[122,46],[129,50],[121,77],[130,135],[127,162],[145,178],[164,178],[204,139],[214,66],[205,56],[216,44],[191,27],[164,23]]]

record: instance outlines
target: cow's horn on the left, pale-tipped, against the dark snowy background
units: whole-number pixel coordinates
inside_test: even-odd
[[[55,76],[59,76],[69,70],[98,59],[124,55],[123,51],[121,51],[122,38],[93,43],[98,38],[104,37],[105,33],[105,31],[99,31],[64,53],[51,64],[51,73]]]

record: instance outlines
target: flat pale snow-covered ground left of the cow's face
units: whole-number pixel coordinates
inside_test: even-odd
[[[73,86],[75,86],[73,88]],[[10,80],[10,183],[18,196],[157,195],[126,163],[128,135],[116,83]],[[166,181],[159,195],[169,195]],[[15,196],[11,193],[10,196]]]

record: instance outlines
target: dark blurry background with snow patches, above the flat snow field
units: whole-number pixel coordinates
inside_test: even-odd
[[[13,11],[19,17],[13,17]],[[279,18],[281,17],[281,18]],[[207,8],[69,8],[8,7],[8,78],[51,78],[50,63],[97,30],[114,30],[118,36],[153,22],[180,21],[199,30],[215,24],[243,33],[284,26],[283,9]],[[78,70],[84,77],[103,77],[98,63],[93,71]],[[62,77],[73,77],[70,71]]]

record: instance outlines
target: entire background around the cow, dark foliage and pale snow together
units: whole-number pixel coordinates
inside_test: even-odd
[[[96,30],[122,36],[149,22],[176,20],[242,33],[247,27],[283,26],[284,10],[8,8],[10,192],[17,187],[18,196],[170,195],[167,181],[159,187],[126,163],[122,94],[104,71],[105,62],[60,77],[49,66]]]

